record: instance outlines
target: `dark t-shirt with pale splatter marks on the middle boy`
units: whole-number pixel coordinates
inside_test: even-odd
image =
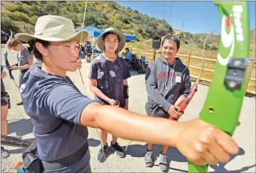
[[[92,60],[89,68],[89,79],[97,80],[97,88],[113,100],[119,100],[120,107],[124,108],[124,79],[131,77],[127,62],[117,57],[114,61],[106,60],[101,54]],[[95,101],[107,104],[105,100],[95,95]]]

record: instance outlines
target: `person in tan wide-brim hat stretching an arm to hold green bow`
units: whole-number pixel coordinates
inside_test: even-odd
[[[16,35],[23,41],[33,40],[33,54],[42,60],[41,67],[35,66],[25,73],[20,87],[25,113],[31,117],[36,136],[28,148],[31,154],[23,155],[24,169],[91,172],[87,126],[105,129],[127,140],[176,146],[199,164],[228,161],[228,153],[237,153],[238,146],[228,134],[200,119],[180,123],[143,116],[118,106],[101,105],[82,94],[66,73],[81,68],[79,43],[87,36],[87,31],[76,33],[71,20],[53,15],[38,18],[34,35]],[[107,51],[105,54],[112,58]],[[122,75],[116,73],[116,68],[108,78]],[[100,79],[102,73],[98,74]],[[211,142],[204,142],[204,138]]]

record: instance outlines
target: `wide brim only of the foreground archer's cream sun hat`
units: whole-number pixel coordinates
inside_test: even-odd
[[[28,33],[17,33],[15,37],[22,41],[31,41],[33,39],[41,39],[43,41],[78,41],[79,43],[84,42],[88,38],[87,30],[80,30],[77,33],[74,33],[72,36],[69,36],[65,39],[56,38],[56,37],[45,37],[45,36],[35,36]]]

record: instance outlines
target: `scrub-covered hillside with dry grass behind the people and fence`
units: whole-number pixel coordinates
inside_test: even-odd
[[[36,20],[41,15],[60,15],[71,19],[76,28],[83,25],[84,1],[1,1],[1,30],[14,33],[33,33]],[[92,25],[97,28],[118,28],[124,33],[131,33],[137,36],[137,41],[127,42],[126,47],[132,49],[143,49],[152,51],[153,36],[164,36],[175,34],[180,39],[180,56],[184,63],[188,63],[186,56],[196,55],[203,57],[203,44],[207,33],[189,33],[172,28],[165,20],[148,17],[137,10],[123,7],[114,1],[88,1],[87,15],[84,25]],[[255,60],[256,28],[250,31],[250,52],[249,58]],[[220,35],[212,34],[207,40],[204,50],[204,57],[216,60]],[[161,54],[161,49],[157,50],[156,58]],[[152,60],[152,52],[141,52],[132,50],[132,53],[145,56],[147,60]],[[201,67],[201,60],[194,59],[190,65]],[[206,61],[204,68],[213,71],[215,61]],[[191,75],[198,76],[199,69],[190,68]],[[202,77],[211,79],[212,72],[204,71]],[[255,68],[252,71],[252,79],[255,79]],[[249,88],[254,89],[255,81],[249,81]]]

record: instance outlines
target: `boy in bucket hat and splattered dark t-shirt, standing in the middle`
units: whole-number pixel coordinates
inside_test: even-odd
[[[97,47],[103,51],[101,55],[92,60],[89,69],[89,88],[95,94],[95,101],[103,105],[118,105],[128,109],[128,82],[131,76],[127,62],[118,56],[124,48],[124,33],[115,28],[107,28],[97,38]],[[119,146],[117,137],[112,136],[111,149],[116,156],[124,157],[124,150]],[[100,129],[102,146],[97,160],[105,161],[108,150],[108,132]]]

